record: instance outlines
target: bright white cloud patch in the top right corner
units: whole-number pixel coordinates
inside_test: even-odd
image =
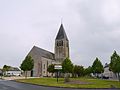
[[[120,5],[118,0],[105,0],[102,7],[101,13],[104,21],[108,24],[118,23],[120,20]]]

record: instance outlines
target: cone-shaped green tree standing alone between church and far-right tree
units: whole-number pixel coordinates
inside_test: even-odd
[[[92,72],[93,74],[98,77],[98,74],[103,73],[104,72],[104,68],[102,63],[100,62],[100,60],[96,57],[95,61],[93,62],[92,65]]]

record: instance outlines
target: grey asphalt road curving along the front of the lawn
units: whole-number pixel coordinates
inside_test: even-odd
[[[44,86],[37,86],[31,84],[18,83],[9,80],[0,80],[0,90],[88,90],[88,89],[44,87]],[[90,90],[96,90],[96,89],[90,89]],[[99,89],[99,90],[120,90],[120,89]]]

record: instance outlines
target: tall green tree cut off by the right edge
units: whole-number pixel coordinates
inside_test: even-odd
[[[118,74],[118,79],[120,81],[120,56],[117,54],[116,51],[114,51],[114,53],[111,56],[109,68],[115,74]]]

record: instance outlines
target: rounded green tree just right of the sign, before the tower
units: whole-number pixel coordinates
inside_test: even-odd
[[[73,64],[69,58],[62,62],[62,72],[64,73],[65,82],[69,81],[69,73],[73,71]]]

